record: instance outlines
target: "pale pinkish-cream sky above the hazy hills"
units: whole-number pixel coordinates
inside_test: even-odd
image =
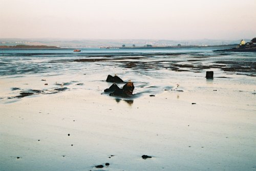
[[[0,0],[0,38],[256,37],[256,0]]]

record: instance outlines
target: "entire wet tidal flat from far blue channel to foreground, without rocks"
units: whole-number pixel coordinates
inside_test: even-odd
[[[256,170],[254,53],[4,55],[0,170]],[[104,92],[109,74],[133,95]]]

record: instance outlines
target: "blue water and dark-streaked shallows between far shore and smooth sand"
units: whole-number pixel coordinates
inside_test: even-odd
[[[113,66],[135,70],[171,69],[201,72],[220,68],[230,74],[256,74],[255,53],[213,52],[215,48],[177,49],[100,49],[4,50],[0,57],[0,75],[77,72],[84,67],[100,69]],[[137,57],[137,58],[133,58]],[[141,58],[140,58],[141,57]],[[77,59],[92,59],[76,62]],[[93,61],[93,59],[97,59]],[[111,69],[112,67],[109,67]]]

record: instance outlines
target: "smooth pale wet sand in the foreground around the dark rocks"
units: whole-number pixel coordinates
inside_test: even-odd
[[[83,76],[2,79],[1,96],[67,89],[1,101],[0,170],[255,170],[255,86],[170,75],[155,93],[135,82],[130,98],[104,93],[104,76],[96,89]]]

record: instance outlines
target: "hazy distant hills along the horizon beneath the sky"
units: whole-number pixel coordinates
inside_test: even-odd
[[[241,39],[242,40],[242,39]],[[212,46],[238,44],[241,40],[157,40],[157,39],[7,39],[0,38],[0,46],[15,46],[17,44],[25,45],[47,45],[65,48],[87,48],[87,47],[135,47],[152,46]],[[249,42],[250,39],[244,39]]]

